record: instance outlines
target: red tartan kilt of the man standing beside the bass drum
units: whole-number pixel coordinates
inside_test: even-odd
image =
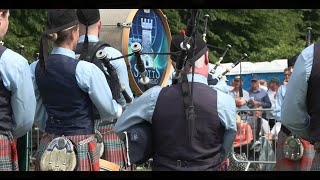
[[[98,125],[99,121],[96,120],[95,128],[103,136],[104,151],[101,159],[113,162],[123,169],[127,169],[127,151],[125,143],[115,134],[115,123],[107,125]],[[128,169],[127,169],[128,170]]]

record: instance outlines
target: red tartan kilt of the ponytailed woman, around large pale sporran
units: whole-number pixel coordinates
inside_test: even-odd
[[[97,152],[97,144],[96,141],[94,141],[94,138],[92,141],[85,143],[83,145],[79,145],[78,143],[84,139],[87,139],[91,136],[94,136],[94,134],[89,135],[74,135],[74,136],[65,136],[69,140],[72,141],[77,157],[77,165],[75,168],[75,171],[99,171],[99,153]],[[53,135],[53,134],[47,134],[44,133],[41,135],[40,138],[40,145],[39,148],[35,154],[35,171],[41,171],[40,170],[40,160],[44,153],[44,151],[47,149],[47,146],[49,143],[57,137],[61,137],[60,135]],[[93,146],[92,151],[89,150],[90,144]]]

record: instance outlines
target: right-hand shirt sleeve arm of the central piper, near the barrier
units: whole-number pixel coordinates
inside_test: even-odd
[[[232,150],[233,142],[237,133],[236,105],[234,99],[223,92],[217,91],[217,109],[221,123],[225,127],[222,144],[222,158],[227,158]]]

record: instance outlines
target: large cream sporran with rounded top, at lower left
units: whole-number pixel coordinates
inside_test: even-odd
[[[62,137],[53,139],[40,160],[41,171],[73,171],[77,164],[72,142]]]

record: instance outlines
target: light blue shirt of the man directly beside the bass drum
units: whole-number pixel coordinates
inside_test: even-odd
[[[79,43],[83,43],[84,38],[85,38],[85,35],[80,36]],[[99,38],[94,35],[88,35],[88,41],[89,42],[98,42]],[[108,54],[107,55],[108,58],[117,58],[117,57],[123,56],[119,50],[117,50],[113,47],[105,47],[104,51]],[[133,93],[132,93],[130,85],[129,85],[127,64],[126,64],[124,58],[110,61],[110,63],[112,64],[112,66],[115,68],[115,70],[117,72],[120,84],[122,84],[125,87],[125,90],[127,91],[128,95],[133,99]],[[104,67],[104,70],[108,74],[106,67]],[[120,94],[120,99],[118,99],[118,102],[124,108],[127,106],[126,100],[122,94]]]

